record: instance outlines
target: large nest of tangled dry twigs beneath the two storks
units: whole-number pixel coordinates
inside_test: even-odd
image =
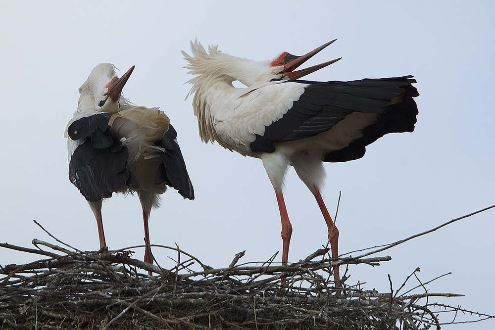
[[[238,264],[241,252],[222,269],[203,264],[178,246],[152,245],[175,250],[174,267],[164,269],[132,258],[132,250],[142,246],[87,252],[60,241],[70,249],[38,239],[32,241],[37,249],[0,243],[45,256],[0,266],[0,329],[409,330],[494,318],[434,302],[460,295],[429,292],[426,286],[433,280],[421,283],[419,269],[396,290],[389,276],[389,292],[364,290],[359,281],[347,284],[352,265],[378,266],[391,258],[369,255],[425,233],[357,258],[332,259],[322,248],[285,266],[274,265],[276,254],[265,262]],[[333,281],[335,265],[345,269],[338,285]],[[406,290],[412,280],[417,283]],[[458,321],[459,312],[477,319]]]

